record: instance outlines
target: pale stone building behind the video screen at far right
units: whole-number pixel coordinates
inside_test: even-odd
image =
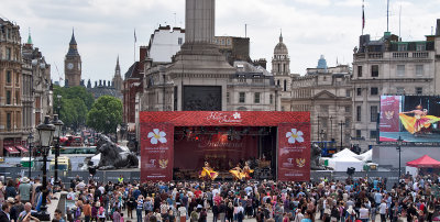
[[[360,36],[353,52],[352,144],[376,144],[381,95],[440,93],[440,20],[436,35],[404,42],[385,32],[380,40]]]

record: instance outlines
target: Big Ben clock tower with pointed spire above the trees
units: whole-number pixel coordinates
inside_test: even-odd
[[[66,87],[79,86],[81,81],[81,56],[78,53],[74,32],[72,32],[69,49],[64,59],[64,75]]]

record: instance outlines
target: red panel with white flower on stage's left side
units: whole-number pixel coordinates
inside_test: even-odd
[[[141,125],[141,180],[173,179],[174,125],[143,123]]]

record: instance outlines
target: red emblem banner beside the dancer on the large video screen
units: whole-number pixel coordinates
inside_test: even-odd
[[[399,112],[402,96],[381,97],[380,132],[399,131]]]

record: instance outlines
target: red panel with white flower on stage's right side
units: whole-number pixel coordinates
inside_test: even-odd
[[[278,180],[310,180],[310,125],[278,125]]]

